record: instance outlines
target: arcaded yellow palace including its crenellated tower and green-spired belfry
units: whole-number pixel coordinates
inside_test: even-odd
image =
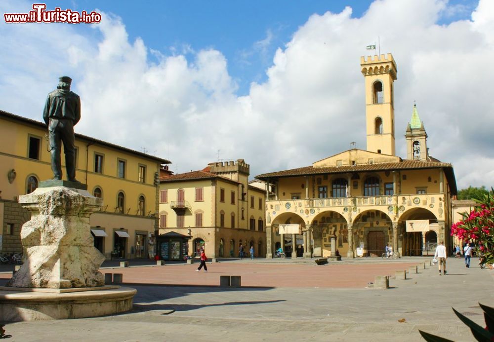
[[[453,166],[428,155],[415,106],[406,130],[410,155],[395,155],[396,62],[391,54],[362,57],[361,71],[367,151],[255,177],[274,189],[266,189],[267,257],[280,247],[293,258],[353,258],[381,256],[386,245],[405,256],[427,254],[440,240],[451,246]]]

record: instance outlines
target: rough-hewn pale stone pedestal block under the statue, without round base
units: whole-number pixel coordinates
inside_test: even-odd
[[[7,286],[60,289],[105,284],[99,272],[105,257],[94,247],[89,224],[101,198],[86,190],[52,187],[19,196],[19,203],[31,212],[21,230],[27,259]]]

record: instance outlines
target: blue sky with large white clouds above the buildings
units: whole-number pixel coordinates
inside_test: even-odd
[[[360,56],[379,37],[398,67],[397,154],[416,101],[458,188],[494,184],[494,1],[237,2],[48,1],[102,21],[2,18],[0,109],[41,121],[68,75],[82,98],[76,132],[169,159],[174,172],[244,158],[253,177],[351,142],[365,149]],[[4,0],[0,12],[31,6]]]

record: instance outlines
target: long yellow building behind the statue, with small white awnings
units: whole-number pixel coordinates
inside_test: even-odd
[[[76,178],[103,198],[90,217],[95,246],[107,259],[148,258],[158,230],[160,165],[169,161],[80,134],[75,146]],[[17,199],[53,177],[50,160],[44,123],[0,111],[0,253],[22,252],[20,229],[30,217]]]

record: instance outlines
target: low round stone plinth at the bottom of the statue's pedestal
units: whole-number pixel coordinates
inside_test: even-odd
[[[130,310],[136,293],[128,287],[69,293],[0,291],[0,317],[12,322],[111,315]]]

